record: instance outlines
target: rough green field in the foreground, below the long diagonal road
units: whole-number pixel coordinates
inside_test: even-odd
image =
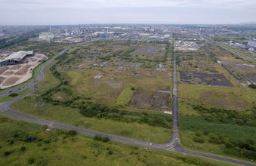
[[[6,118],[0,118],[0,128],[1,165],[231,165],[178,152],[145,151],[80,135],[67,136],[65,131],[45,132],[44,127]]]

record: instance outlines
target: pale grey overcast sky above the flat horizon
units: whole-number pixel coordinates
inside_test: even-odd
[[[0,25],[256,21],[256,0],[0,0]]]

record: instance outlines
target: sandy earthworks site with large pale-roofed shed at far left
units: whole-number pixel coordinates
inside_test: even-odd
[[[10,55],[2,55],[0,88],[19,85],[32,78],[33,69],[45,60],[48,60],[48,57],[44,54],[35,54],[34,51],[17,51]]]

